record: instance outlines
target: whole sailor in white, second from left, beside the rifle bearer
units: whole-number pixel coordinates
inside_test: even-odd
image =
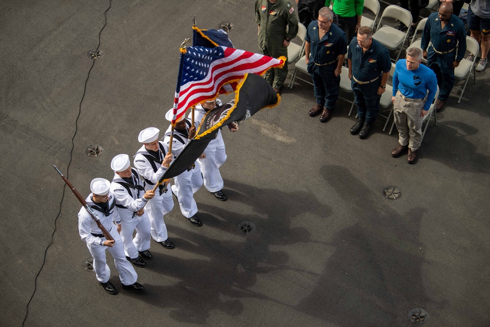
[[[145,181],[138,171],[131,168],[129,155],[118,154],[111,162],[114,178],[111,182],[111,193],[116,199],[121,218],[121,238],[124,243],[126,259],[136,267],[145,267],[145,261],[151,259],[150,248],[150,221],[143,207],[148,200],[153,199],[155,193],[151,190],[145,192]],[[136,228],[136,236],[133,232]]]

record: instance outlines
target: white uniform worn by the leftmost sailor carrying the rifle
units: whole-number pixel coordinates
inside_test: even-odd
[[[112,222],[120,223],[118,208],[115,207],[114,196],[109,193],[109,200],[106,208],[98,206],[93,202],[93,193],[91,193],[85,201],[95,210],[102,226],[111,234],[114,239],[112,247],[103,246],[106,241],[102,231],[98,228],[96,222],[84,207],[78,212],[78,232],[82,241],[87,243],[87,248],[94,257],[94,271],[97,280],[101,283],[106,283],[111,277],[111,270],[107,265],[105,258],[105,250],[109,250],[114,258],[114,264],[119,271],[119,278],[123,285],[131,285],[136,282],[138,275],[134,271],[133,266],[126,260],[124,255],[124,246],[121,236],[119,236],[118,228]]]

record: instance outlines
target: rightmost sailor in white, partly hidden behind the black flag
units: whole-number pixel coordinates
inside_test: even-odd
[[[216,106],[220,106],[223,103],[220,99],[214,99],[211,101],[204,101],[196,105],[195,110],[195,123],[196,130],[199,128],[202,119],[210,110],[213,110]],[[189,114],[189,118],[192,118],[192,113]],[[238,130],[238,124],[231,123],[228,128],[232,132]],[[220,174],[220,167],[226,160],[226,151],[224,149],[223,136],[221,135],[221,128],[215,135],[214,139],[209,142],[206,150],[204,150],[205,158],[197,159],[199,163],[204,187],[211,192],[218,200],[228,200],[223,194],[223,178]]]

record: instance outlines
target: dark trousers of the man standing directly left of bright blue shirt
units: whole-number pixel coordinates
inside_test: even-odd
[[[381,96],[378,95],[380,81],[381,79],[378,79],[372,83],[361,85],[352,78],[354,101],[357,104],[357,118],[364,119],[369,124],[374,123],[378,117],[379,100],[381,99]]]

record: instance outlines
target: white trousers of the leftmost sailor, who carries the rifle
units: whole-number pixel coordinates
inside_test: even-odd
[[[105,250],[109,250],[114,258],[116,269],[119,271],[119,279],[121,279],[121,283],[124,285],[134,284],[138,279],[138,275],[134,271],[133,266],[124,256],[123,240],[118,234],[117,226],[112,226],[110,234],[114,241],[116,241],[112,248],[103,245],[87,244],[87,248],[89,248],[90,253],[94,257],[94,271],[97,280],[101,283],[106,283],[111,277],[111,270],[109,269],[109,266],[105,260]],[[101,239],[102,241],[105,241],[105,237],[102,237]]]

